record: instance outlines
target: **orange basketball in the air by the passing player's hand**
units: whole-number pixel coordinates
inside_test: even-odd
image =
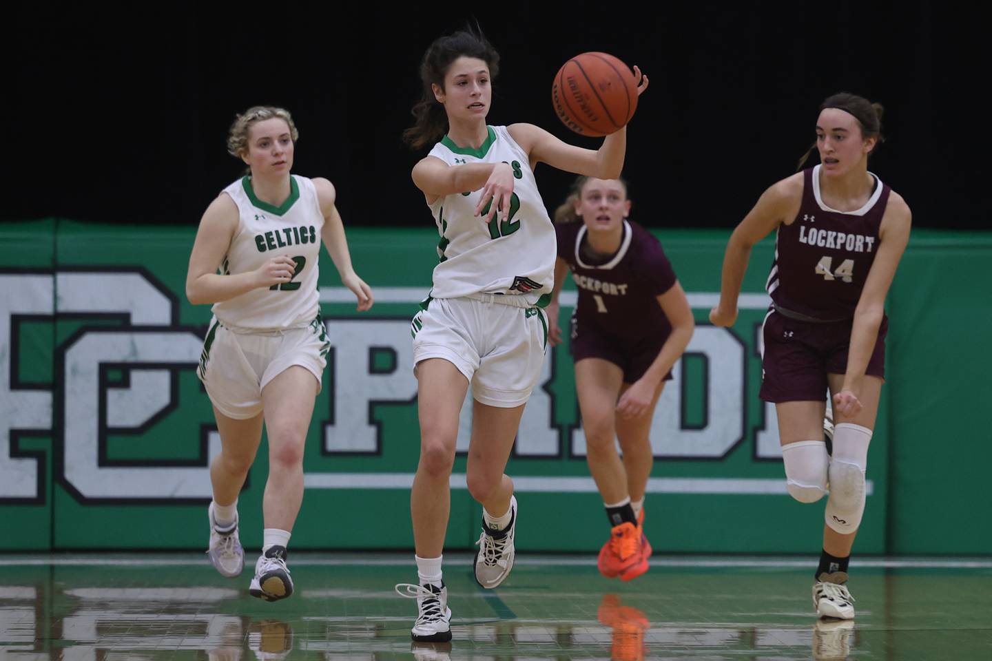
[[[613,55],[575,55],[555,75],[552,103],[558,119],[575,133],[606,136],[634,116],[637,80],[630,67]]]

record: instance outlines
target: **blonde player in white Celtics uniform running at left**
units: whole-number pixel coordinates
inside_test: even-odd
[[[371,289],[351,267],[334,186],[290,173],[298,136],[281,108],[257,106],[237,117],[227,148],[251,174],[207,207],[186,275],[189,302],[213,303],[197,371],[222,446],[210,463],[207,553],[222,575],[241,573],[237,499],[264,422],[265,529],[250,592],[266,601],[293,594],[286,548],[303,501],[304,443],[329,349],[316,290],[321,242],[358,299],[358,310],[373,302]]]

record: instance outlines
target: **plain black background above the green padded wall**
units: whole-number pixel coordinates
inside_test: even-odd
[[[490,124],[558,122],[551,82],[603,51],[651,79],[629,126],[632,217],[733,227],[795,170],[819,103],[847,90],[886,107],[869,168],[916,227],[987,225],[987,22],[947,3],[271,4],[8,10],[5,221],[58,216],[195,225],[240,175],[234,114],[275,104],[301,138],[294,171],[338,188],[345,224],[433,225],[401,142],[435,37],[477,19],[502,57]],[[813,156],[815,162],[815,155]],[[554,208],[571,175],[538,167]]]

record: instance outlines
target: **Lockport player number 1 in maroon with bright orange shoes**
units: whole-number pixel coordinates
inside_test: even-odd
[[[695,325],[662,245],[628,221],[629,213],[623,179],[576,179],[555,213],[558,260],[548,307],[549,340],[557,345],[558,293],[570,270],[578,289],[570,346],[586,457],[612,528],[599,571],[623,581],[648,571],[643,505],[654,460],[648,434]]]

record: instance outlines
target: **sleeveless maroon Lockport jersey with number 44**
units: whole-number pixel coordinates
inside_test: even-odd
[[[819,194],[819,165],[803,171],[803,204],[792,225],[780,225],[769,295],[780,308],[824,321],[854,316],[878,253],[878,228],[889,186],[875,189],[857,211],[835,211]]]

